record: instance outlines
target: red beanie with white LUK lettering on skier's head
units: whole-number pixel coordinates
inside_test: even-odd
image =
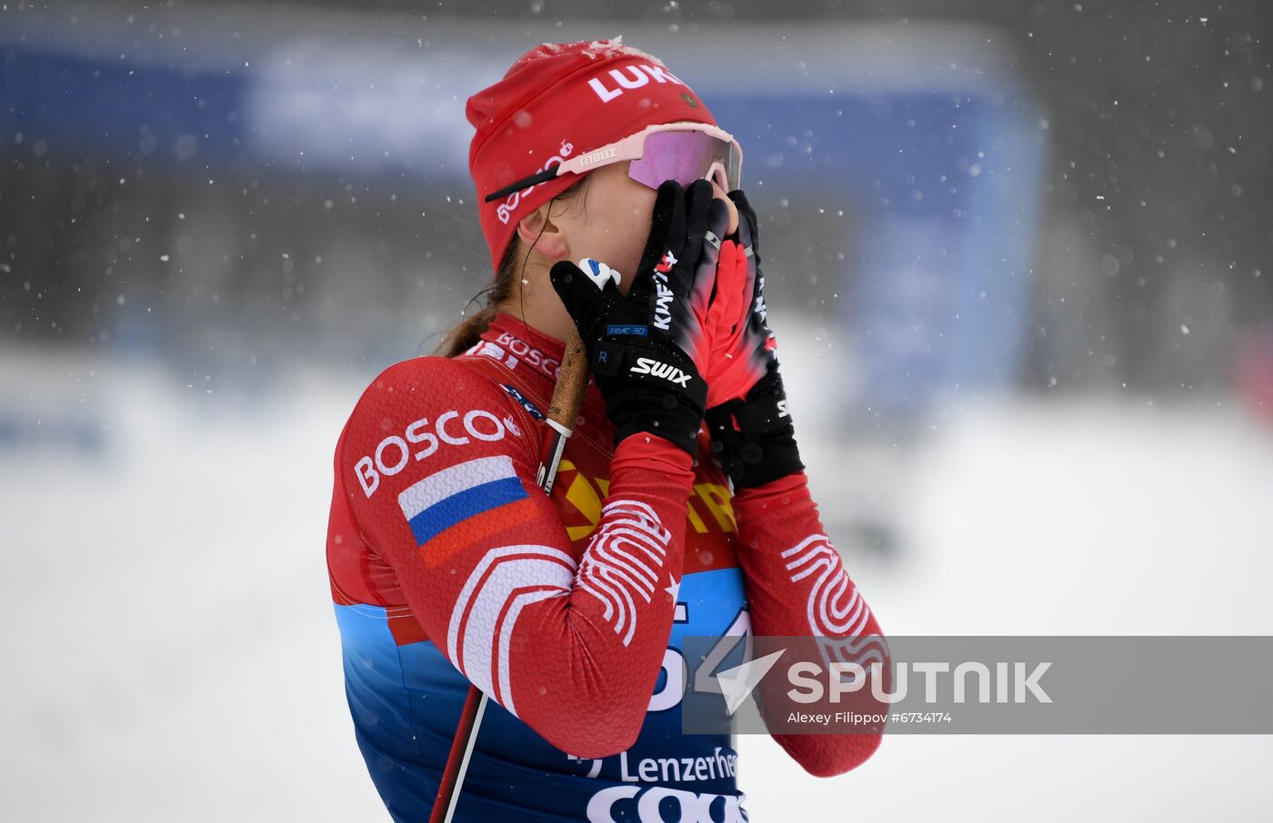
[[[466,114],[477,130],[468,169],[496,273],[518,221],[580,176],[563,174],[491,202],[482,201],[486,195],[645,126],[684,120],[717,125],[663,61],[621,39],[544,43],[518,57],[503,80],[468,98]]]

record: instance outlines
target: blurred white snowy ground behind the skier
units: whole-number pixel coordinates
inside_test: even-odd
[[[829,522],[877,492],[900,520],[892,556],[841,543],[886,632],[1273,633],[1273,432],[1227,405],[1009,398],[881,458],[822,445],[825,375],[801,361]],[[160,370],[19,350],[0,378],[0,413],[109,425],[88,453],[0,440],[0,818],[387,819],[322,553],[360,387],[304,375],[227,417]],[[760,823],[1273,814],[1269,737],[892,735],[833,780],[740,748]]]

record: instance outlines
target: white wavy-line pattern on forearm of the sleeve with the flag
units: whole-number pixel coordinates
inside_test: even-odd
[[[611,515],[608,519],[607,515]],[[629,645],[636,632],[636,604],[649,603],[667,558],[672,533],[649,505],[612,500],[601,509],[602,525],[579,562],[579,588],[605,605],[605,617]]]

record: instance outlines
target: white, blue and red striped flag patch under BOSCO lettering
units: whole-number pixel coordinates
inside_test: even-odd
[[[462,534],[448,538],[463,543],[513,525],[528,500],[513,469],[513,458],[498,454],[457,463],[425,477],[398,495],[398,506],[423,548],[453,528]]]

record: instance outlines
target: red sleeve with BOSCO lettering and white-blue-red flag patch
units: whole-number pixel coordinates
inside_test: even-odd
[[[658,678],[691,460],[662,438],[620,443],[608,501],[575,562],[535,483],[538,443],[499,385],[420,357],[359,399],[339,482],[447,659],[556,748],[606,757],[635,742]]]

